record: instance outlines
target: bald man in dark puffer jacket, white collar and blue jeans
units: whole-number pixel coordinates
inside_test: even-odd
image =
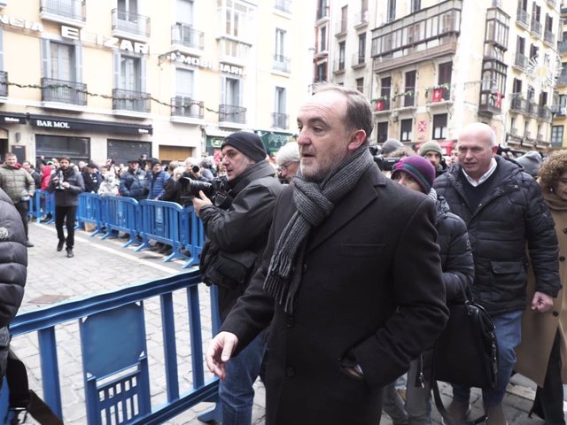
[[[525,306],[530,302],[545,313],[561,289],[555,225],[540,186],[516,163],[495,156],[497,149],[492,128],[470,124],[457,142],[459,164],[434,184],[467,224],[475,259],[472,295],[496,325],[498,382],[494,389],[483,389],[488,425],[506,423],[501,400],[516,363]],[[532,300],[526,299],[526,243],[536,277]],[[470,389],[454,385],[453,397],[449,411],[462,421],[469,412]]]

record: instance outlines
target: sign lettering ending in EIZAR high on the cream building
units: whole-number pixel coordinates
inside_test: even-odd
[[[13,16],[0,15],[0,24],[9,27],[17,27],[27,29],[28,31],[35,31],[43,34],[43,25],[40,22],[33,22],[27,19],[19,19]],[[150,46],[144,42],[131,42],[130,40],[120,39],[118,37],[108,37],[106,35],[90,33],[84,29],[77,29],[75,27],[61,26],[61,36],[71,40],[78,40],[81,42],[89,42],[97,46],[108,47],[110,49],[116,48],[126,50],[133,53],[140,53],[142,55],[150,54]]]

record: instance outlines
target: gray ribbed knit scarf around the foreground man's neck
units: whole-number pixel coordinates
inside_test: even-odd
[[[293,178],[293,204],[297,211],[276,243],[264,282],[264,289],[283,305],[286,313],[293,313],[293,300],[301,281],[300,265],[310,230],[332,213],[338,201],[373,164],[368,146],[364,145],[343,159],[321,183],[307,182],[300,173]]]

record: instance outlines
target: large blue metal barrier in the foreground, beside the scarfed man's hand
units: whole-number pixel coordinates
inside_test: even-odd
[[[63,330],[64,326],[77,320],[81,329],[84,401],[89,425],[158,424],[200,402],[216,402],[218,380],[205,373],[202,330],[203,321],[206,321],[205,328],[212,329],[213,334],[219,327],[216,291],[213,288],[209,291],[211,311],[201,311],[198,290],[206,290],[206,287],[199,282],[198,272],[186,272],[16,316],[11,325],[14,343],[23,334],[37,333],[43,399],[53,412],[65,420],[58,372],[58,356],[62,353],[58,352],[56,344],[56,326]],[[175,329],[175,324],[180,324],[175,322],[175,309],[180,308],[179,291],[186,292],[188,322],[185,325],[189,328],[190,340],[190,354],[187,356],[190,357],[191,388],[183,393],[179,386],[179,372],[185,377],[186,370],[177,365],[181,354],[176,348],[176,337],[180,337],[182,332]],[[165,375],[167,402],[151,404],[150,394],[163,384],[147,379],[147,358],[150,355],[155,358],[157,353],[146,347],[144,303],[157,298],[161,306],[164,365],[160,371],[151,374],[153,377]],[[151,312],[155,313],[156,309],[151,308]],[[155,327],[155,323],[152,325]],[[181,325],[183,327],[183,323]],[[30,355],[28,348],[32,347],[26,349]],[[153,350],[156,350],[155,346]],[[26,358],[20,357],[26,361]],[[159,367],[154,362],[150,369]],[[3,397],[0,398],[2,425],[12,420],[6,412],[7,400]]]

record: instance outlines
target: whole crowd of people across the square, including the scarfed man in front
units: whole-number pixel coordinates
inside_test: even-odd
[[[502,400],[519,372],[538,385],[530,414],[564,424],[567,151],[517,155],[476,122],[453,152],[389,139],[378,162],[368,99],[330,84],[301,107],[298,126],[273,164],[258,135],[238,131],[219,161],[74,166],[64,156],[34,167],[7,154],[0,188],[27,247],[29,197],[55,193],[67,257],[83,191],[194,207],[203,282],[219,290],[221,331],[206,364],[221,377],[225,425],[251,423],[258,376],[270,425],[377,424],[383,409],[395,425],[431,424],[432,348],[447,305],[469,295],[498,344],[497,383],[482,389],[486,423],[506,425]],[[379,168],[384,158],[391,170]],[[451,386],[449,414],[469,421],[470,388]]]

